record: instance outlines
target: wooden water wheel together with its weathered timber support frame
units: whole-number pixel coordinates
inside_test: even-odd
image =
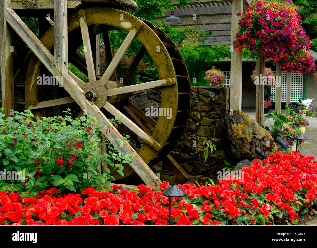
[[[111,7],[111,4],[114,4],[114,2],[126,4],[128,9],[137,8],[137,5],[131,0],[5,0],[1,2],[0,25],[4,30],[1,34],[2,43],[0,50],[2,58],[1,88],[3,107],[6,111],[5,115],[9,116],[10,110],[14,109],[13,53],[10,52],[11,34],[9,28],[9,26],[11,26],[30,48],[30,51],[24,59],[25,63],[30,61],[27,72],[29,78],[34,78],[36,73],[39,73],[39,65],[42,63],[52,75],[63,77],[63,88],[70,95],[65,98],[39,102],[36,97],[37,91],[32,91],[34,88],[32,88],[33,84],[31,84],[29,88],[26,88],[26,102],[28,102],[26,104],[27,108],[37,110],[48,106],[76,102],[81,109],[85,109],[87,114],[95,117],[97,121],[106,121],[107,125],[111,128],[111,134],[107,134],[105,130],[103,131],[103,133],[107,135],[107,139],[111,141],[114,146],[123,144],[123,146],[120,146],[119,148],[123,154],[130,153],[134,155],[134,159],[130,164],[131,167],[128,169],[128,173],[131,173],[131,171],[133,171],[133,173],[138,173],[141,179],[143,179],[148,186],[158,186],[159,183],[161,183],[160,179],[147,165],[147,163],[153,158],[155,158],[155,160],[165,159],[167,161],[167,167],[176,176],[174,178],[175,182],[177,179],[180,179],[182,182],[187,182],[188,180],[195,181],[198,180],[198,178],[201,179],[202,176],[193,177],[188,175],[168,154],[169,149],[176,144],[178,135],[180,135],[184,129],[185,125],[183,125],[182,122],[184,122],[184,118],[189,111],[190,84],[188,72],[182,57],[179,54],[177,47],[171,42],[170,38],[152,23],[136,18],[126,12],[120,12],[120,10],[104,8],[103,4],[108,3]],[[87,4],[87,7],[96,6],[97,8],[81,9],[83,4]],[[46,18],[48,21],[47,24],[53,25],[53,27],[49,28],[41,40],[32,33],[32,31],[25,25],[25,23],[23,23],[17,14],[16,11],[23,9],[32,9],[34,11],[41,9],[54,9],[54,23],[50,20],[49,16]],[[78,11],[72,11],[72,14],[69,14],[69,9],[77,9]],[[107,12],[109,18],[105,18],[105,12]],[[113,18],[114,14],[118,16],[120,14],[124,15],[125,22],[119,22],[119,24],[116,23],[116,19]],[[88,29],[88,25],[95,23],[105,23],[108,26],[124,29],[128,32],[128,35],[126,36],[126,39],[122,43],[120,49],[115,55],[113,55],[108,31],[102,30],[107,51],[107,69],[102,76],[100,75],[100,49],[98,47],[100,44],[100,35],[91,35],[90,30]],[[144,25],[144,23],[146,23],[146,25]],[[47,26],[47,24],[45,25]],[[81,30],[82,42],[87,48],[87,52],[85,52],[86,58],[84,59],[81,58],[81,55],[77,51],[74,55],[70,55],[68,53],[68,44],[74,40],[74,37],[68,36],[68,32],[76,28]],[[142,43],[143,47],[140,49],[137,57],[128,69],[124,80],[127,82],[131,78],[143,55],[147,51],[152,58],[155,53],[155,59],[153,59],[154,62],[155,60],[166,60],[165,64],[160,64],[159,66],[158,72],[160,79],[158,81],[142,83],[135,86],[118,84],[115,69],[134,38],[138,39]],[[150,38],[148,44],[145,42],[145,38]],[[52,55],[49,51],[53,45],[54,55]],[[157,53],[156,51],[157,45],[161,48],[160,53]],[[69,60],[77,62],[77,66],[84,70],[86,69],[89,82],[99,84],[99,88],[105,89],[104,92],[107,94],[107,99],[112,100],[107,100],[100,106],[97,98],[95,98],[95,100],[93,98],[94,101],[88,100],[87,92],[85,92],[85,83],[68,70]],[[20,71],[22,70],[24,69],[21,68]],[[172,107],[173,118],[168,124],[166,124],[166,117],[158,118],[158,120],[154,120],[151,117],[146,118],[144,112],[132,103],[128,103],[125,106],[126,113],[131,118],[128,118],[117,108],[113,107],[113,103],[118,101],[116,97],[117,95],[133,95],[141,92],[147,92],[155,88],[161,88],[162,107]],[[178,101],[182,101],[182,105],[179,105]],[[123,117],[121,122],[145,141],[145,145],[143,145],[142,149],[136,152],[129,143],[123,140],[120,132],[116,128],[113,128],[113,125],[101,112],[100,108],[105,108],[114,116]],[[154,128],[152,133],[146,129],[139,118],[146,120],[152,125]],[[157,128],[157,130],[165,128],[165,133],[162,134],[158,131],[155,132],[155,128]],[[165,157],[166,154],[167,157]],[[173,178],[171,178],[171,180],[173,180]]]

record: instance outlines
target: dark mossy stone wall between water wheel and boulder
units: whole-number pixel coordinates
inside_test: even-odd
[[[229,109],[228,87],[191,87],[191,109],[184,133],[171,151],[173,158],[192,175],[217,178],[226,167],[223,139],[226,136],[225,116]],[[203,157],[204,141],[211,140],[216,150]],[[164,167],[164,165],[163,165]]]

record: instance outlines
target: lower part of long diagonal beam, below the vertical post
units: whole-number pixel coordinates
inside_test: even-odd
[[[123,147],[119,147],[120,151],[122,151],[123,156],[126,153],[133,154],[134,158],[132,163],[130,164],[133,170],[138,173],[141,179],[146,183],[146,185],[150,187],[159,186],[161,180],[157,178],[155,173],[147,166],[147,164],[142,160],[137,152],[133,150],[133,148],[129,145],[128,142],[123,140],[119,131],[116,128],[113,128],[112,123],[110,123],[107,117],[101,113],[100,109],[91,104],[86,98],[83,97],[84,91],[77,85],[77,83],[68,75],[62,74],[64,76],[64,88],[67,90],[69,95],[73,97],[73,99],[78,103],[81,109],[87,109],[87,112],[90,113],[92,117],[95,117],[97,121],[102,123],[102,120],[105,120],[107,125],[111,128],[111,133],[106,134],[106,130],[102,130],[103,134],[107,136],[107,139],[110,142],[113,142],[114,146],[120,146],[120,143],[123,143]],[[116,138],[119,140],[116,140]]]

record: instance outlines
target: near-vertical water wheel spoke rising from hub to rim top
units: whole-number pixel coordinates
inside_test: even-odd
[[[94,59],[93,59],[93,53],[91,51],[91,44],[90,44],[90,38],[89,38],[89,32],[88,32],[85,11],[79,10],[78,16],[79,16],[79,23],[80,23],[80,28],[81,28],[82,41],[84,43],[84,52],[85,52],[85,57],[86,57],[88,78],[89,78],[89,81],[95,81],[96,74],[95,74],[95,69],[94,69]]]

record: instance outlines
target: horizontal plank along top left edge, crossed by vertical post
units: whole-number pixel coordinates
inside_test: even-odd
[[[67,8],[74,9],[81,5],[81,0],[68,0]],[[12,9],[54,9],[53,0],[37,0],[37,1],[28,1],[28,0],[12,0]]]

